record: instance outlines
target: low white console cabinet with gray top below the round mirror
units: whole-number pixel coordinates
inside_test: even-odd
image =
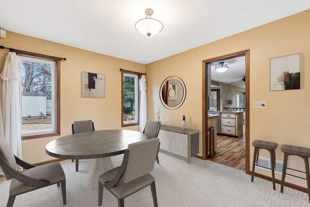
[[[158,133],[160,149],[190,158],[199,153],[199,130],[161,125]]]

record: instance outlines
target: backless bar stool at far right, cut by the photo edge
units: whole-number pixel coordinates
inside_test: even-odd
[[[309,173],[309,161],[308,161],[308,158],[310,157],[310,149],[306,148],[306,147],[283,144],[281,146],[281,151],[284,152],[282,180],[281,180],[281,192],[283,192],[283,188],[284,188],[284,180],[285,180],[286,169],[287,169],[287,158],[290,155],[297,155],[298,157],[301,157],[305,161],[306,172],[302,172],[302,173],[306,173],[307,184],[308,184],[308,196],[309,196],[309,202],[310,202],[310,173]],[[289,169],[294,170],[291,168],[289,168]],[[295,171],[297,171],[297,170],[295,170]],[[301,171],[298,171],[298,172],[301,172]],[[290,174],[287,174],[287,175],[290,175]],[[296,177],[298,177],[298,176],[296,176]],[[303,177],[299,177],[299,178],[305,179]]]

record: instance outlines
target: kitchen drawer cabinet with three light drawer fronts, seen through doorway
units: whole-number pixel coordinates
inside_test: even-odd
[[[243,136],[243,114],[242,112],[221,113],[221,134],[231,137]]]

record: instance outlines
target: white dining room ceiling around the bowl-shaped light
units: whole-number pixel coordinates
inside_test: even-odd
[[[310,1],[0,0],[0,5],[4,30],[149,64],[302,12]],[[135,29],[147,8],[164,25],[151,37]]]

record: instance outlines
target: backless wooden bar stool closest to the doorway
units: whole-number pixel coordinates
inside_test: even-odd
[[[275,149],[277,149],[278,144],[272,143],[272,142],[267,142],[267,141],[262,141],[262,140],[254,140],[252,142],[252,145],[254,146],[254,156],[253,156],[251,182],[253,182],[253,179],[254,179],[255,162],[257,165],[258,157],[259,157],[259,150],[265,149],[265,150],[268,150],[270,153],[272,184],[273,184],[273,190],[276,190],[276,183],[275,183],[276,153],[275,153]]]

